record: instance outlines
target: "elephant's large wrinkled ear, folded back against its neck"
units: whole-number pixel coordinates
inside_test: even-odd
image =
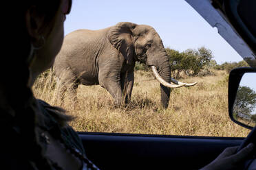
[[[108,38],[111,43],[122,56],[125,57],[128,64],[134,60],[134,38],[132,30],[137,25],[135,23],[122,22],[111,27],[109,30]]]

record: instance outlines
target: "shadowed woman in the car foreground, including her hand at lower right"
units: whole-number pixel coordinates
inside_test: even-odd
[[[63,23],[72,1],[8,2],[3,16],[8,56],[0,62],[1,166],[8,169],[97,169],[85,157],[78,135],[67,125],[72,117],[61,108],[34,98],[32,84],[49,69],[63,43]],[[14,3],[14,4],[13,4]],[[4,60],[3,60],[4,58]],[[242,160],[253,147],[238,154],[227,149],[205,169],[223,169]],[[233,156],[233,157],[231,157]],[[216,163],[217,162],[217,163]],[[225,168],[224,168],[225,169]]]

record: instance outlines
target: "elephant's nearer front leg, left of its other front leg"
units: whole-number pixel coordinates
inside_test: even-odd
[[[116,106],[122,104],[122,89],[120,84],[120,71],[115,69],[102,69],[98,74],[100,86],[105,88],[115,100]]]

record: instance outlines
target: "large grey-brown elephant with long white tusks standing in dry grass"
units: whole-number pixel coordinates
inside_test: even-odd
[[[129,22],[98,30],[78,29],[67,34],[53,68],[62,84],[61,93],[68,90],[76,96],[79,84],[99,84],[120,106],[131,100],[136,61],[150,66],[160,82],[163,108],[169,105],[170,88],[196,84],[178,82],[171,77],[167,52],[153,27]]]

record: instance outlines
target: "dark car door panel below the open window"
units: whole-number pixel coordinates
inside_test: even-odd
[[[79,133],[100,169],[200,169],[244,138]]]

